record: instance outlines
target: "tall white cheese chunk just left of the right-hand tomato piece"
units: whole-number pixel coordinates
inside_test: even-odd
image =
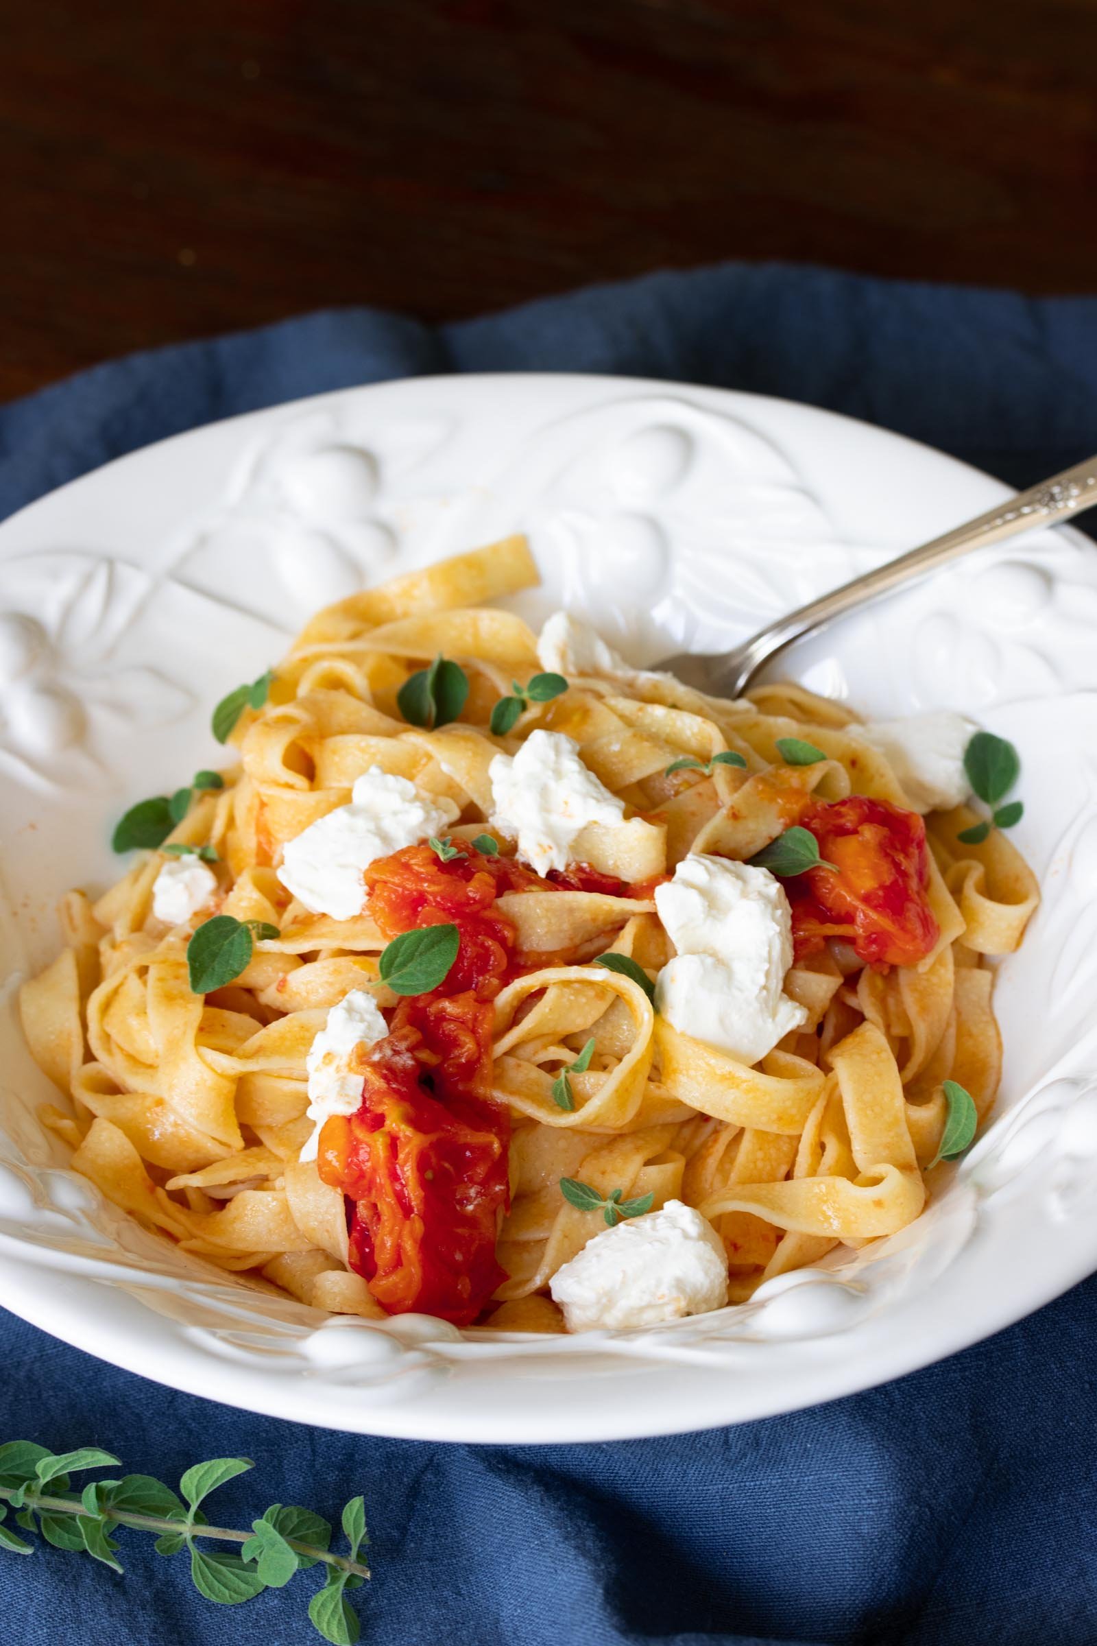
[[[655,907],[678,950],[655,984],[674,1029],[757,1063],[806,1021],[783,993],[793,915],[768,869],[691,853],[656,886]]]

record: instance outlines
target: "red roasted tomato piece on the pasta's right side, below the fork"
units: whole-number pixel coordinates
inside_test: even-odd
[[[916,811],[850,795],[814,800],[798,816],[832,869],[785,881],[793,905],[796,958],[844,938],[868,966],[913,966],[939,937],[926,899],[926,825]]]

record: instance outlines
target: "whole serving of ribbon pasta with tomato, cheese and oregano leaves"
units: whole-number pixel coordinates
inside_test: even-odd
[[[702,696],[488,604],[536,581],[516,537],[321,611],[21,991],[74,1169],[321,1310],[742,1302],[911,1223],[995,1100],[1013,747]]]

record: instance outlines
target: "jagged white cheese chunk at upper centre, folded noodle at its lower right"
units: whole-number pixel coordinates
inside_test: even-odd
[[[488,765],[492,823],[518,841],[518,856],[538,874],[567,867],[587,823],[620,823],[625,803],[589,772],[579,744],[559,731],[533,731],[518,754]]]

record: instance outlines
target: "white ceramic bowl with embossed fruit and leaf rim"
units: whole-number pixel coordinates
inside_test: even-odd
[[[609,1440],[763,1417],[952,1353],[1097,1267],[1097,550],[985,551],[788,670],[873,714],[954,706],[1023,759],[1044,890],[1002,966],[998,1118],[929,1211],[834,1271],[636,1333],[327,1322],[146,1234],[66,1170],[15,993],[56,895],[117,874],[133,800],[215,756],[211,704],[327,601],[526,530],[544,588],[636,662],[717,649],[1000,500],[939,453],[806,407],[597,377],[414,379],[197,430],[0,527],[0,1302],[229,1404],[370,1434]],[[183,774],[183,775],[181,775]]]

